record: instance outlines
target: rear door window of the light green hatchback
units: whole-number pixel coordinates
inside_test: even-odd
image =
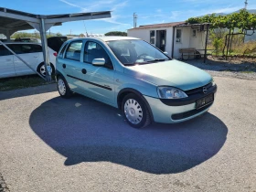
[[[82,41],[73,41],[69,44],[66,51],[65,58],[71,60],[80,61],[80,51],[81,51]]]

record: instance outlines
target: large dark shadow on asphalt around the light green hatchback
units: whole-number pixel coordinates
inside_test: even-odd
[[[65,165],[112,162],[153,174],[186,171],[216,155],[228,128],[206,113],[179,124],[155,123],[141,130],[123,121],[117,109],[76,95],[44,102],[31,113],[32,130]]]

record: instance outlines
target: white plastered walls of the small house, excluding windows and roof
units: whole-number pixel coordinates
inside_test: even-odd
[[[181,42],[176,42],[176,31],[175,31],[175,44],[174,44],[174,58],[180,58],[181,54],[179,53],[179,48],[205,48],[205,38],[206,34],[204,31],[197,31],[197,36],[192,37],[192,28],[191,27],[176,27],[175,30],[179,28],[181,32]],[[173,27],[167,28],[146,28],[146,29],[129,29],[127,31],[128,37],[137,37],[141,38],[150,43],[150,31],[155,30],[166,30],[166,44],[165,51],[168,52],[168,55],[172,56],[172,42],[173,42]],[[155,45],[154,45],[155,46]],[[200,51],[204,53],[204,51]]]

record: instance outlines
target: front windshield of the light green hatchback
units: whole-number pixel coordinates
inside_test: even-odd
[[[112,40],[107,44],[125,66],[169,60],[164,53],[143,40]]]

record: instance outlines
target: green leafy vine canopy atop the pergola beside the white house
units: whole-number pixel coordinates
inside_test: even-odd
[[[211,23],[211,28],[239,28],[243,29],[255,29],[256,28],[256,14],[251,14],[245,9],[241,9],[240,13],[233,13],[227,16],[216,16],[212,14],[210,16],[191,17],[188,18],[187,23],[190,24],[202,24]]]

